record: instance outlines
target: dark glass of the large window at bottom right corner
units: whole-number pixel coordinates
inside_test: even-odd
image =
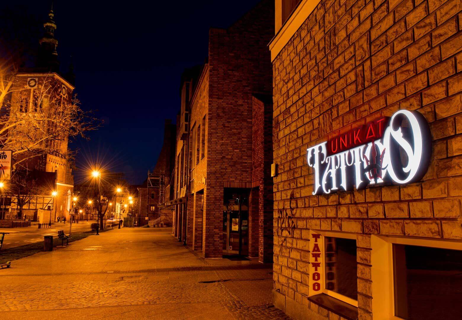
[[[458,319],[462,251],[393,245],[395,315],[403,319]]]

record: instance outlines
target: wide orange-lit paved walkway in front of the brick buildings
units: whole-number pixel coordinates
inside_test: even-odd
[[[271,265],[203,259],[170,232],[114,229],[13,261],[0,318],[287,319],[271,305]]]

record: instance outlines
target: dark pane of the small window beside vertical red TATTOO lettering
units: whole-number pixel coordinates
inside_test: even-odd
[[[325,289],[358,300],[356,240],[325,237]]]

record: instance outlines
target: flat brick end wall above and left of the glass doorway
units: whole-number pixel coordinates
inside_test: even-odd
[[[228,29],[210,30],[203,232],[208,257],[222,256],[225,181],[251,184],[252,94],[271,92],[267,43],[273,35],[274,3],[268,0]]]

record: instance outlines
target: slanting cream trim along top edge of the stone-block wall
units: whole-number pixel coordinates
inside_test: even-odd
[[[295,32],[305,22],[311,12],[321,0],[303,0],[295,8],[291,16],[287,19],[286,23],[282,26],[279,32],[269,43],[269,49],[271,51],[271,61],[273,61],[286,46]]]

